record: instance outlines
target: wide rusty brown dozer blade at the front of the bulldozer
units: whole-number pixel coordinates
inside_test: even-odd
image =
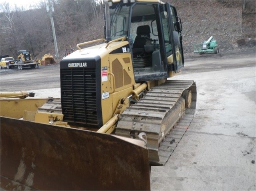
[[[149,190],[142,141],[1,117],[1,189]]]

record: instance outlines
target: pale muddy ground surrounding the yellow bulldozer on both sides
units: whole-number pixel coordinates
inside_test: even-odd
[[[165,166],[151,166],[151,190],[256,190],[255,48],[185,55],[194,80],[194,120]],[[59,65],[1,69],[1,91],[60,97]]]

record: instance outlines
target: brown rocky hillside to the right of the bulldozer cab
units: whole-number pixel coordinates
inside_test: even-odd
[[[172,0],[183,23],[185,53],[213,36],[220,51],[255,47],[256,1]]]

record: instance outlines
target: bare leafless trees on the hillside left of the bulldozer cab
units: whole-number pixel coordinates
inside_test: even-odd
[[[7,1],[7,0],[6,0]],[[0,51],[14,57],[18,50],[28,49],[33,57],[45,53],[54,55],[50,18],[46,12],[48,0],[41,0],[32,10],[9,2],[0,5]],[[81,41],[103,35],[102,0],[54,0],[54,26],[60,51],[75,47]],[[97,21],[97,22],[95,22]]]

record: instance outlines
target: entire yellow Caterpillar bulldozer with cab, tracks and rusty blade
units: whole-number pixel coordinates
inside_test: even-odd
[[[105,38],[60,61],[60,99],[2,96],[2,189],[149,190],[149,164],[164,165],[189,127],[196,83],[169,79],[184,66],[175,7],[104,4]]]

